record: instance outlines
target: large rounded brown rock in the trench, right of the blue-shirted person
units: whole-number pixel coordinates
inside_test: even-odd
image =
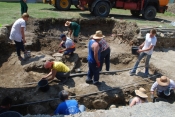
[[[105,109],[108,106],[108,103],[104,100],[95,100],[92,102],[95,109]]]

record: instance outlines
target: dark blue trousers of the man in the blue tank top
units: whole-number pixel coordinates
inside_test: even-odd
[[[89,71],[87,74],[87,80],[92,80],[94,76],[94,83],[98,82],[99,80],[99,68],[97,67],[96,63],[90,63],[88,61]]]

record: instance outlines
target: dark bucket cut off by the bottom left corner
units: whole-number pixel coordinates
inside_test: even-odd
[[[0,117],[22,117],[22,115],[15,111],[7,111],[0,114]]]

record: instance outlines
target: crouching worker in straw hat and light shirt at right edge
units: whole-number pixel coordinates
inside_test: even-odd
[[[157,89],[157,96],[167,98],[174,94],[175,82],[166,76],[157,78],[151,87],[151,98],[154,99],[154,91]]]

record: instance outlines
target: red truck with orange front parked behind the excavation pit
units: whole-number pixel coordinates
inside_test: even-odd
[[[156,13],[164,13],[169,0],[79,0],[81,6],[87,5],[95,16],[106,17],[110,9],[128,9],[133,16],[142,16],[147,20],[155,18]]]

